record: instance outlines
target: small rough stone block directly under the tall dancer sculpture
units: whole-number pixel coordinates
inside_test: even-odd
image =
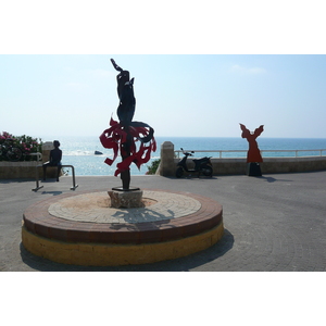
[[[143,208],[142,190],[129,190],[121,191],[114,190],[108,191],[111,198],[111,208],[114,209],[134,209]]]

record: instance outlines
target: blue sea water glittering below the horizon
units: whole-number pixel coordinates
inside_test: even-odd
[[[75,173],[79,176],[99,176],[114,175],[116,164],[121,162],[121,156],[117,156],[114,163],[109,166],[104,163],[106,158],[113,158],[113,151],[104,149],[98,136],[95,137],[54,137],[53,139],[42,139],[43,141],[60,140],[61,150],[63,152],[62,164],[75,166]],[[148,165],[153,160],[160,159],[161,145],[164,141],[174,143],[175,150],[244,150],[246,152],[224,152],[223,158],[246,158],[248,150],[248,141],[241,137],[155,137],[158,149],[152,153],[151,160],[143,164],[140,170],[135,164],[130,165],[131,175],[145,175],[148,171]],[[294,156],[293,152],[277,152],[277,150],[315,150],[309,152],[300,152],[299,155],[319,155],[321,149],[326,150],[325,138],[258,138],[260,150],[273,150],[275,152],[263,152],[263,158],[266,156]],[[103,154],[96,155],[95,151],[100,151]],[[323,152],[325,155],[325,151]],[[195,158],[200,156],[218,158],[217,152],[196,152]],[[181,156],[181,155],[180,155]]]

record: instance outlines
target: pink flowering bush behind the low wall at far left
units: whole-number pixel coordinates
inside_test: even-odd
[[[12,139],[12,141],[10,141]],[[42,141],[39,138],[33,138],[30,136],[13,136],[7,131],[2,131],[0,134],[0,145],[11,145],[13,147],[17,147],[22,150],[22,159],[21,161],[35,161],[36,156],[29,155],[32,153],[41,152]],[[4,158],[0,156],[0,161],[3,161]]]

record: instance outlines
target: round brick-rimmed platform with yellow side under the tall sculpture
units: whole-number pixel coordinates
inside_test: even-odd
[[[143,208],[114,209],[108,191],[62,195],[28,206],[22,242],[64,264],[114,266],[186,256],[223,236],[222,205],[189,192],[143,190]]]

